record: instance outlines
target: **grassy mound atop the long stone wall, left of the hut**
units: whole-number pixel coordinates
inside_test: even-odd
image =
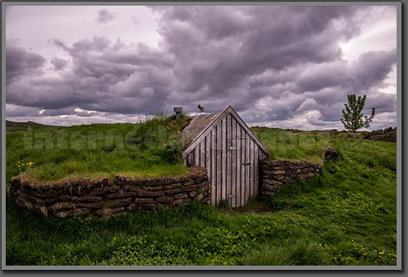
[[[6,133],[6,179],[39,180],[115,174],[183,174],[180,132],[188,118],[152,117],[138,124],[92,124]]]

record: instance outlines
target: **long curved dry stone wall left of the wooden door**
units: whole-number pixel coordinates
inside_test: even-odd
[[[47,184],[11,179],[9,196],[26,209],[44,216],[70,217],[91,214],[111,216],[128,211],[175,207],[190,202],[210,203],[210,183],[203,167],[175,177],[63,179]]]

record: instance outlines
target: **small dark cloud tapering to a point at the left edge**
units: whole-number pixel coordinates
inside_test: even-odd
[[[39,73],[46,58],[19,46],[16,41],[6,41],[6,83]]]

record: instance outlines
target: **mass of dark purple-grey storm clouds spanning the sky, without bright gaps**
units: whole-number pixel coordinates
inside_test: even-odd
[[[45,109],[39,116],[81,118],[152,113],[160,105],[197,112],[203,104],[214,113],[233,105],[248,122],[307,117],[316,126],[340,120],[348,93],[367,93],[367,108],[378,113],[396,110],[395,95],[381,92],[396,51],[369,51],[350,63],[339,47],[359,33],[356,13],[369,7],[151,9],[163,38],[158,48],[103,36],[53,39],[69,56],[51,59],[57,77],[41,71],[39,54],[8,44],[7,58],[16,56],[18,65],[7,65],[7,102]],[[100,23],[109,15],[101,10]]]

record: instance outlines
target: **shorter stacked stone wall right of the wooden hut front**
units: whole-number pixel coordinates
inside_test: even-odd
[[[305,161],[268,160],[262,166],[262,194],[273,195],[286,184],[301,177],[309,179],[322,170],[322,165]]]

